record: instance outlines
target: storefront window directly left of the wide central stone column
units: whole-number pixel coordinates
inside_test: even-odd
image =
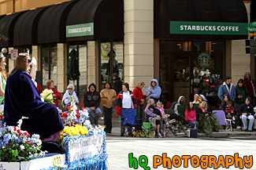
[[[111,46],[112,45],[112,46]],[[111,52],[111,49],[113,51]],[[111,62],[111,59],[113,62]],[[124,45],[123,42],[101,43],[101,89],[106,81],[112,81],[113,73],[117,73],[124,81]]]

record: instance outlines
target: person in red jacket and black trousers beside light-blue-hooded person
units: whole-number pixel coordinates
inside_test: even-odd
[[[143,105],[144,99],[147,98],[147,95],[143,95],[143,87],[145,83],[139,81],[135,89],[133,90],[133,96],[137,99],[137,119],[143,120]]]

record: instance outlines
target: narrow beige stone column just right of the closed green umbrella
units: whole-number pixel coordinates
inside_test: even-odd
[[[87,42],[87,85],[90,85],[91,83],[97,85],[95,49],[95,42]]]

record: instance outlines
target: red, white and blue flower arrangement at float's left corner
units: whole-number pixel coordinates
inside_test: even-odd
[[[30,135],[20,129],[22,117],[17,126],[0,128],[0,161],[29,161],[32,157],[43,157],[46,151],[40,150],[42,141],[39,135]],[[38,153],[40,150],[40,153]]]

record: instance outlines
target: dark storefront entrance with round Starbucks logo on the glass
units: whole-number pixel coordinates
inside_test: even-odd
[[[186,103],[202,94],[213,108],[219,107],[217,89],[224,78],[224,42],[161,41],[161,100]]]

